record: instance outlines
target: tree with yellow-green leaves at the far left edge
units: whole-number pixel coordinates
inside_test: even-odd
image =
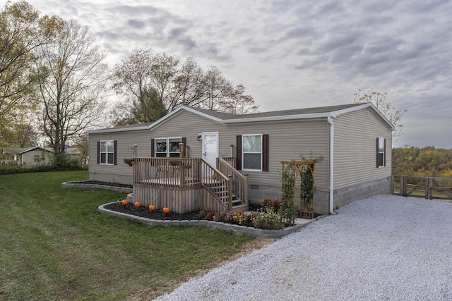
[[[47,17],[48,18],[48,17]],[[23,116],[36,109],[30,94],[36,88],[33,50],[45,42],[39,12],[25,1],[6,4],[0,10],[0,144],[17,147],[30,125]],[[31,133],[31,132],[30,132]],[[20,140],[20,139],[19,139]],[[27,139],[25,139],[27,140]],[[34,140],[34,139],[33,139]]]

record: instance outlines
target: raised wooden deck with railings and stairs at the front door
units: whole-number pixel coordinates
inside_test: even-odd
[[[248,209],[248,179],[223,159],[217,166],[197,158],[133,158],[130,164],[133,199],[145,206],[179,213]]]

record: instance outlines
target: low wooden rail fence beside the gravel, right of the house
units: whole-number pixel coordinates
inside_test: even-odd
[[[393,195],[452,200],[452,178],[392,176],[391,184]]]

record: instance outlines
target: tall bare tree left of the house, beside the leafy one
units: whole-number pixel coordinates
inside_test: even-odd
[[[36,51],[39,100],[44,134],[59,155],[102,117],[106,66],[87,27],[60,19],[48,28],[49,41]]]

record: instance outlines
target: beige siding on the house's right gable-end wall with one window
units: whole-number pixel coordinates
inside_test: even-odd
[[[334,189],[391,176],[391,130],[370,110],[334,119]],[[386,166],[376,167],[376,138],[386,138]]]

